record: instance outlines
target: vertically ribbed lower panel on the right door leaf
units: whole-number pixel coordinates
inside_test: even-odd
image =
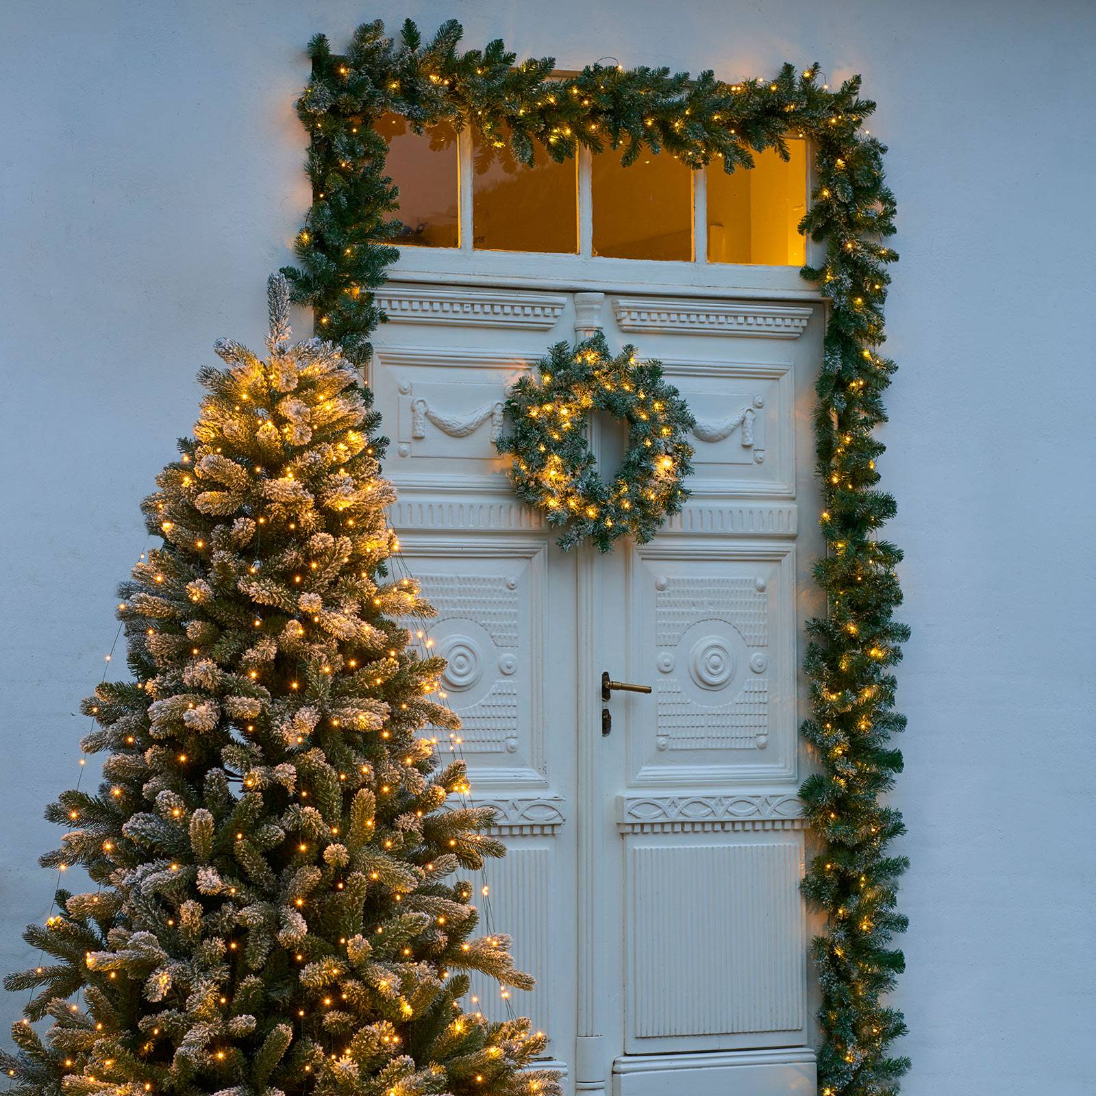
[[[802,1027],[798,844],[638,847],[630,876],[633,1037]]]

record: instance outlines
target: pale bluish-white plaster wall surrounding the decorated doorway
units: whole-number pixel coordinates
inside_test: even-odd
[[[42,807],[77,772],[138,500],[213,339],[261,342],[307,199],[305,43],[407,14],[564,68],[864,73],[902,254],[882,468],[914,628],[905,1092],[1092,1092],[1096,8],[1069,0],[3,5],[0,970],[33,960]]]

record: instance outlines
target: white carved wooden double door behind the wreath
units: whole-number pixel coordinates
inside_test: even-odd
[[[392,524],[438,610],[473,797],[510,849],[490,927],[538,978],[514,1008],[574,1092],[813,1092],[795,792],[819,307],[589,285],[378,296]],[[493,445],[506,386],[596,327],[660,358],[697,418],[685,512],[609,556],[560,551]],[[592,435],[609,468],[619,431]],[[652,693],[603,703],[603,672]],[[475,992],[504,1015],[496,987]]]

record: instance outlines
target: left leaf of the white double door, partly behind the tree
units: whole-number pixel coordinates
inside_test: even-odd
[[[471,879],[480,931],[511,935],[517,966],[537,977],[535,990],[511,990],[509,1001],[476,977],[465,1004],[491,1019],[529,1016],[564,1068],[575,1003],[551,972],[574,960],[574,742],[566,733],[574,727],[574,562],[514,499],[494,441],[506,387],[544,353],[568,300],[388,286],[391,322],[378,331],[368,377],[392,441],[385,473],[400,495],[390,520],[401,566],[436,610],[423,638],[448,661],[442,687],[463,723],[454,741],[439,733],[438,750],[443,762],[466,760],[471,801],[494,808],[491,832],[507,848]]]

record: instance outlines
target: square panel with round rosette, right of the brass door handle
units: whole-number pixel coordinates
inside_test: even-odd
[[[795,772],[791,545],[666,536],[636,549],[637,671],[654,704],[629,724],[628,786]]]

